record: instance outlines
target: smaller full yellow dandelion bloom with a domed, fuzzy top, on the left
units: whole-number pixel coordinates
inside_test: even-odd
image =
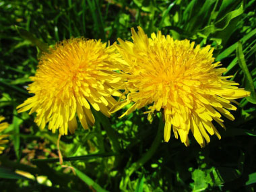
[[[91,107],[110,116],[116,100],[110,95],[120,86],[121,77],[117,60],[119,54],[114,46],[106,46],[100,40],[72,38],[57,43],[49,53],[40,57],[38,69],[28,91],[34,96],[18,108],[19,113],[36,112],[35,122],[44,129],[61,135],[74,133],[77,114],[84,129],[94,125]],[[119,92],[114,92],[119,96]]]

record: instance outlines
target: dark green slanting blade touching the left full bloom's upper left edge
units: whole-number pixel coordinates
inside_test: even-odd
[[[37,46],[38,49],[40,49],[40,51],[42,51],[42,52],[48,51],[48,48],[49,48],[48,44],[46,44],[45,42],[42,42],[40,39],[34,37],[34,35],[32,33],[28,32],[24,28],[21,28],[19,26],[15,26],[15,28],[22,38],[29,40],[32,44]]]

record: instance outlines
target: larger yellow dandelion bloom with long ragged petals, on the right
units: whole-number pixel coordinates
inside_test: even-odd
[[[236,107],[230,102],[250,92],[228,80],[231,76],[222,76],[226,69],[220,68],[220,62],[214,63],[214,49],[209,45],[200,48],[195,42],[173,40],[160,31],[148,38],[140,27],[138,30],[131,29],[133,42],[118,39],[120,44],[116,44],[126,62],[122,68],[127,79],[123,89],[128,94],[111,112],[134,102],[123,117],[150,105],[148,119],[154,111],[164,112],[164,141],[169,141],[171,129],[186,146],[190,130],[201,147],[210,141],[208,134],[220,139],[212,121],[224,127],[222,115],[234,120],[229,110]]]

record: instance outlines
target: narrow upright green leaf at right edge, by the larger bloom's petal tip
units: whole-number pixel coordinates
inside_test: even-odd
[[[243,70],[244,73],[244,79],[245,79],[245,90],[251,92],[250,96],[247,96],[246,99],[253,103],[256,104],[256,93],[255,93],[255,88],[253,85],[253,78],[251,77],[251,73],[249,72],[249,69],[247,67],[247,64],[245,63],[245,56],[243,54],[243,48],[241,42],[238,42],[237,47],[236,47],[236,57],[238,60],[238,64]]]

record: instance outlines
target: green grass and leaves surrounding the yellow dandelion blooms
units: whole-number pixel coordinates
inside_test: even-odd
[[[0,1],[0,114],[10,126],[0,156],[0,189],[5,191],[254,191],[256,183],[256,1]],[[172,135],[163,142],[162,120],[152,124],[142,108],[118,119],[96,113],[90,131],[79,125],[61,137],[65,164],[57,158],[57,134],[40,131],[34,115],[15,110],[30,96],[40,51],[71,37],[100,38],[112,44],[131,40],[131,27],[147,34],[162,30],[173,38],[214,47],[214,57],[251,91],[238,100],[235,121],[225,119],[222,139],[201,149],[193,135],[185,147]],[[37,47],[36,47],[37,46]],[[160,139],[159,139],[160,138]],[[157,146],[157,148],[156,148]],[[51,185],[24,179],[15,170],[45,176]]]

